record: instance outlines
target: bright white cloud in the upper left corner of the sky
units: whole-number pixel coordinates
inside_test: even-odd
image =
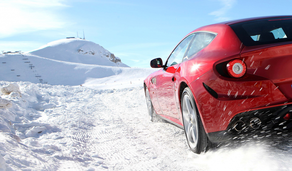
[[[61,0],[0,0],[0,38],[60,29],[65,22],[58,16],[58,8],[67,7]]]

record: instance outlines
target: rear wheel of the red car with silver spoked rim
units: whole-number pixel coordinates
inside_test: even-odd
[[[183,91],[181,107],[187,142],[194,153],[200,154],[207,148],[208,137],[189,87]]]

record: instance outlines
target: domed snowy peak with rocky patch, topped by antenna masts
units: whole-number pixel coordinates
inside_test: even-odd
[[[28,54],[65,62],[129,67],[102,46],[77,38],[52,41]]]

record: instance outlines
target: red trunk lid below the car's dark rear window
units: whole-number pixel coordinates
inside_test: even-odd
[[[241,58],[249,74],[270,79],[279,90],[292,99],[292,44],[244,47]]]

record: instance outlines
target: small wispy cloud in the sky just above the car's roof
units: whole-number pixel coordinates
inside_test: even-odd
[[[236,1],[235,0],[219,0],[219,1],[222,3],[223,7],[220,8],[219,10],[209,13],[209,15],[214,15],[215,20],[217,21],[230,20],[229,17],[226,17],[226,13],[234,6]]]

